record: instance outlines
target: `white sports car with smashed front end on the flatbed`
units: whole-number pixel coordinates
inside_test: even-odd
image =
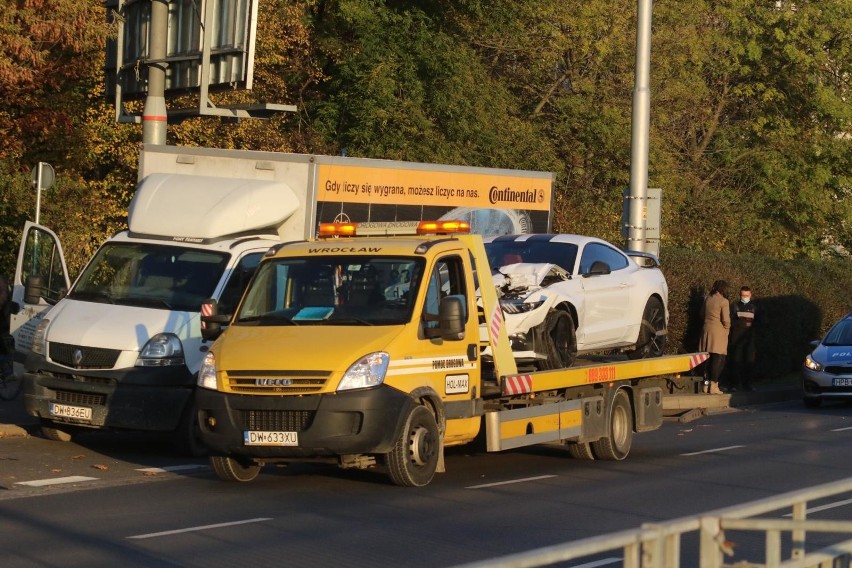
[[[569,367],[577,354],[662,355],[668,285],[654,255],[579,235],[485,239],[515,359]]]

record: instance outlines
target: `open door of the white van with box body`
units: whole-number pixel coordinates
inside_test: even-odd
[[[17,313],[11,318],[16,375],[23,372],[19,365],[23,365],[32,348],[36,326],[69,287],[68,269],[56,233],[27,221],[12,281],[12,301],[18,306]]]

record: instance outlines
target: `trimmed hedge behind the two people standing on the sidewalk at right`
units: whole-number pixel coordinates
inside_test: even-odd
[[[852,260],[775,260],[752,255],[664,249],[660,255],[669,283],[667,351],[698,349],[699,312],[718,279],[750,286],[757,302],[756,378],[774,378],[799,369],[810,341],[852,309]]]

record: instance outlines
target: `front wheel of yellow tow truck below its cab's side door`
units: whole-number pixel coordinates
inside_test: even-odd
[[[440,451],[435,417],[425,406],[415,406],[393,449],[387,454],[388,475],[396,485],[423,487],[435,476]]]

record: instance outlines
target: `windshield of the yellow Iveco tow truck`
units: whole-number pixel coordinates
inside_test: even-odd
[[[261,263],[237,325],[399,325],[411,321],[422,258],[308,257]]]

